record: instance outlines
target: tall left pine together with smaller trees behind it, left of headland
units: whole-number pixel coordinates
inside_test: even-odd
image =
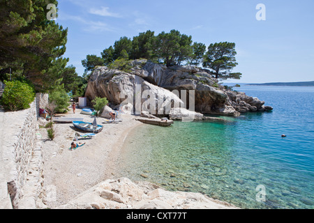
[[[42,93],[63,84],[66,92],[82,95],[86,80],[77,75],[74,66],[67,65],[68,58],[62,57],[66,52],[68,29],[47,20],[48,3],[58,5],[56,0],[1,0],[0,80],[27,80],[25,83],[35,92]]]

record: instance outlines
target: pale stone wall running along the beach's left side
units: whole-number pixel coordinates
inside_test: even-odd
[[[29,109],[0,113],[0,208],[43,206],[43,155],[36,132],[39,106],[45,98],[37,94]]]

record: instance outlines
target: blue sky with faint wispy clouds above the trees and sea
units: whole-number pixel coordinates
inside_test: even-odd
[[[258,3],[266,20],[257,20]],[[56,22],[68,27],[65,57],[79,75],[87,54],[100,56],[122,36],[177,29],[194,42],[233,42],[240,80],[314,81],[313,0],[59,0]]]

